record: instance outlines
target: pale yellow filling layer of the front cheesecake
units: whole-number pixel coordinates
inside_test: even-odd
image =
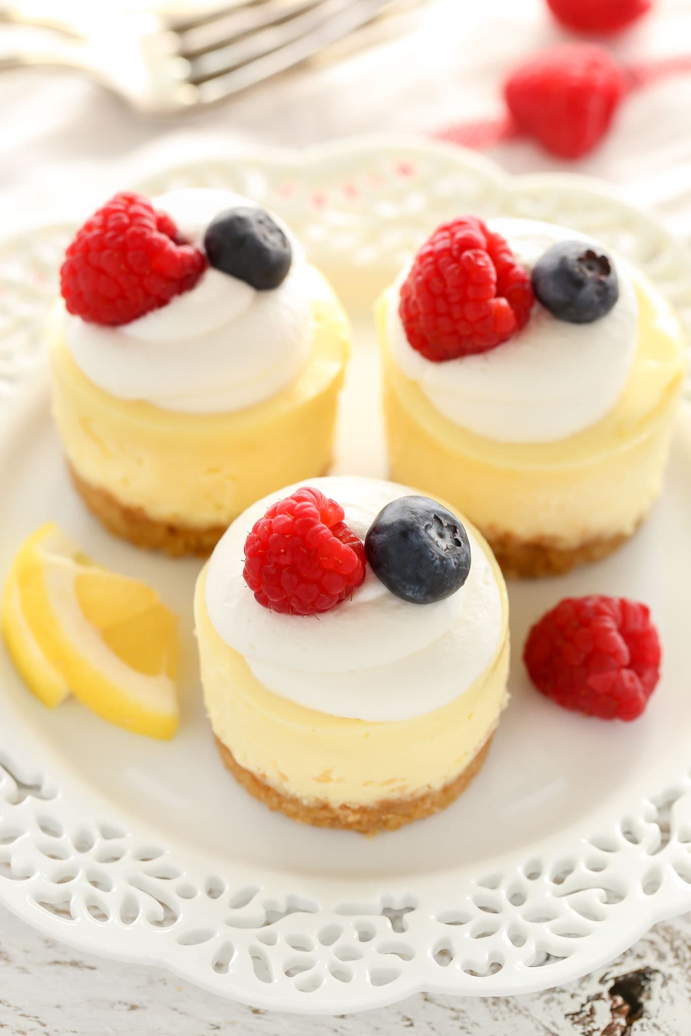
[[[204,701],[213,732],[236,762],[308,805],[370,806],[413,798],[455,780],[493,733],[507,703],[508,599],[496,563],[482,546],[502,600],[494,659],[469,688],[459,688],[459,696],[449,704],[393,722],[333,716],[267,690],[211,624],[204,569],[195,593]],[[424,696],[424,687],[420,694]]]

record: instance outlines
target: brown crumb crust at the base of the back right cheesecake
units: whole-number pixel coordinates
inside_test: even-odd
[[[589,540],[578,547],[558,547],[548,538],[520,540],[511,533],[491,534],[484,530],[499,568],[508,579],[534,579],[539,576],[560,576],[579,565],[600,562],[613,553],[638,530],[642,519],[631,533]]]

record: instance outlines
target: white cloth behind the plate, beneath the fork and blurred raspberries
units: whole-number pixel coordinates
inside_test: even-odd
[[[107,17],[106,0],[99,3]],[[297,147],[500,115],[507,69],[567,38],[544,0],[430,0],[408,24],[414,31],[339,63],[301,68],[170,121],[143,121],[77,75],[0,75],[0,231],[74,210],[76,201],[95,205],[131,181],[152,148],[181,156],[209,138],[225,146]],[[0,44],[16,31],[3,29]],[[651,16],[609,46],[624,62],[691,53],[691,3],[657,0]],[[614,181],[633,199],[658,204],[672,229],[691,236],[689,111],[691,75],[680,76],[627,98],[606,141],[577,164],[529,141],[489,153],[514,172],[569,169]]]

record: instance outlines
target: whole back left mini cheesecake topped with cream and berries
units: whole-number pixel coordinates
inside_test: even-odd
[[[75,485],[113,533],[207,555],[257,497],[328,467],[347,318],[254,203],[116,196],[67,250],[62,293],[53,411]]]

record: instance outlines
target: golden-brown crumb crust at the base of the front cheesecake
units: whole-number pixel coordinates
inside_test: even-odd
[[[438,790],[408,799],[382,799],[373,806],[343,805],[332,806],[327,802],[307,805],[296,796],[286,795],[271,787],[261,778],[246,770],[236,761],[230,749],[215,738],[217,747],[224,765],[230,770],[242,787],[259,799],[269,809],[281,811],[291,821],[311,824],[315,828],[338,828],[342,831],[357,831],[364,835],[375,835],[380,831],[396,831],[412,821],[421,821],[432,813],[438,813],[464,792],[473,777],[480,773],[487,758],[493,735],[487,739],[458,777]]]

